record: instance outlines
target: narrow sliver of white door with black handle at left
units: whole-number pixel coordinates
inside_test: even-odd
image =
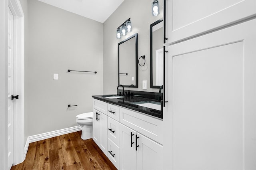
[[[8,169],[13,163],[13,15],[8,8]]]

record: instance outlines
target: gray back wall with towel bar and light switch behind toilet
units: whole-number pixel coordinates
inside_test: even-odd
[[[76,115],[91,112],[92,95],[103,93],[103,24],[37,0],[27,2],[25,139],[77,126]]]

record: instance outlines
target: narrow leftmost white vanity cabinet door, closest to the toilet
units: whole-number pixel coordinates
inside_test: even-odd
[[[93,121],[92,121],[92,139],[99,146],[100,145],[100,120],[98,121],[99,111],[92,109]]]

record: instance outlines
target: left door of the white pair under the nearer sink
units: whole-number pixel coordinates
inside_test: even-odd
[[[120,123],[119,132],[119,168],[120,170],[136,170],[136,131]]]

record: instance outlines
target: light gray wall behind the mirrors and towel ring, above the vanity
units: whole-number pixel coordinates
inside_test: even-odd
[[[138,88],[125,88],[137,91],[159,91],[150,89],[150,24],[163,17],[163,4],[160,1],[160,15],[152,16],[149,0],[125,0],[104,22],[104,94],[116,93],[118,85],[118,43],[138,33],[138,57],[146,56],[146,64],[138,68]],[[116,38],[116,29],[131,18],[132,32],[121,39]],[[142,90],[142,80],[147,80],[147,90]]]

